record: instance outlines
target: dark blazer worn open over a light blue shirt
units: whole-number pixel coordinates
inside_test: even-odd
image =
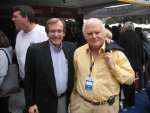
[[[74,83],[75,46],[70,42],[63,42],[62,49],[68,60],[68,105]],[[40,113],[57,113],[58,97],[48,41],[33,44],[28,48],[25,62],[25,98],[27,109],[36,104]]]

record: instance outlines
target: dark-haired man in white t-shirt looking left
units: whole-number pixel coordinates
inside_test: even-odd
[[[16,38],[16,56],[19,64],[20,77],[24,79],[24,64],[26,52],[30,44],[48,40],[45,27],[35,23],[34,10],[29,6],[13,8],[13,17],[16,29],[20,30]]]

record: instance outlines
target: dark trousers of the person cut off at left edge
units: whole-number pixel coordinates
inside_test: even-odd
[[[9,113],[8,100],[9,100],[9,97],[0,97],[0,112],[1,113]]]

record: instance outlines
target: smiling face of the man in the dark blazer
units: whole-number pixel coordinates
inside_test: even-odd
[[[62,22],[58,21],[56,23],[49,24],[47,32],[48,32],[48,37],[51,43],[54,46],[59,47],[65,36]]]

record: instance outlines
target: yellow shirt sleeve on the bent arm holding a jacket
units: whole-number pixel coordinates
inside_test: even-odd
[[[112,74],[120,84],[132,84],[135,80],[135,73],[129,60],[121,51],[114,53],[115,66],[111,69]]]

